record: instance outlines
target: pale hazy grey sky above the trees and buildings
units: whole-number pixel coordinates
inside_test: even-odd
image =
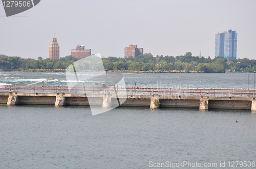
[[[237,58],[256,59],[255,0],[41,0],[6,17],[0,4],[0,54],[49,58],[51,38],[60,57],[78,44],[104,57],[123,57],[137,44],[144,53],[214,58],[215,34],[238,33]]]

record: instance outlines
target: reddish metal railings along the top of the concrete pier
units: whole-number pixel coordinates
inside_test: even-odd
[[[204,89],[204,88],[102,88],[102,87],[73,87],[67,86],[17,86],[0,85],[0,92],[9,93],[86,93],[86,94],[128,94],[128,95],[177,95],[177,96],[225,96],[225,97],[254,97],[253,89]]]

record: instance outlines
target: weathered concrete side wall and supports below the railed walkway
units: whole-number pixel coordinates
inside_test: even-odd
[[[120,98],[124,97],[119,95]],[[112,96],[105,97],[103,94],[65,94],[65,96],[55,93],[17,93],[10,95],[9,92],[0,92],[1,104],[42,104],[42,105],[87,105],[88,98],[93,100],[93,105],[110,107]],[[156,103],[156,104],[154,104]],[[160,103],[160,104],[159,104]],[[245,109],[256,111],[256,100],[253,97],[204,97],[186,96],[173,97],[162,95],[152,97],[152,95],[127,95],[127,99],[121,107],[148,107],[148,108],[198,108],[207,109]]]

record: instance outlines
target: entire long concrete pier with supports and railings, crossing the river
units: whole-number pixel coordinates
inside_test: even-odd
[[[89,105],[88,98],[95,105],[111,104],[114,90],[101,88],[57,86],[0,86],[0,104],[42,104],[42,105]],[[198,88],[116,88],[119,98],[126,98],[120,106],[148,108],[199,108],[245,109],[256,111],[254,90],[248,89],[198,89]],[[108,96],[108,97],[106,97]],[[113,96],[113,97],[112,97]],[[108,100],[103,100],[104,98]]]

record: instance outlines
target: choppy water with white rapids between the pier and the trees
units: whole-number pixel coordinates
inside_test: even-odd
[[[254,89],[254,73],[249,78],[247,73],[123,73],[123,76],[129,87],[135,87],[136,83],[137,87]],[[30,85],[50,78],[54,79],[45,85],[67,85],[66,75],[61,72],[0,72],[0,85]]]

